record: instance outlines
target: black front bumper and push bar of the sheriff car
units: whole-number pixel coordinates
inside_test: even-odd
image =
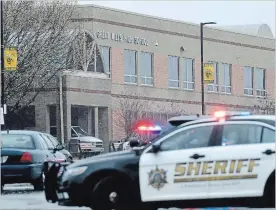
[[[61,182],[58,171],[62,164],[53,165],[45,176],[45,197],[48,202],[61,206],[89,206],[89,195],[85,192],[82,180],[72,179]],[[80,193],[81,192],[81,193]]]

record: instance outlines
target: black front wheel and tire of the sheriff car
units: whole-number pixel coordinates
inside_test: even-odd
[[[91,204],[93,210],[135,210],[131,202],[130,192],[122,186],[122,182],[113,177],[106,177],[93,189]]]

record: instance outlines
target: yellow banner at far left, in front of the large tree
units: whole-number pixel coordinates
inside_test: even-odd
[[[16,71],[16,69],[17,69],[17,49],[15,47],[5,48],[4,69],[6,71]]]

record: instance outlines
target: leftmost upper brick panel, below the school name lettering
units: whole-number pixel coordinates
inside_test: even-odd
[[[124,49],[111,49],[111,78],[113,83],[124,84]]]

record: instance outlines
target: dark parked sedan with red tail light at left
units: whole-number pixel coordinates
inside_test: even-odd
[[[1,189],[5,184],[31,183],[34,190],[43,190],[47,162],[66,161],[62,149],[41,132],[1,131]]]

